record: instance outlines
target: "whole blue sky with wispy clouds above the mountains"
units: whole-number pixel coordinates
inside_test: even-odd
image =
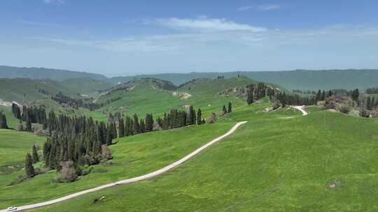
[[[0,1],[0,64],[108,76],[378,68],[378,1]]]

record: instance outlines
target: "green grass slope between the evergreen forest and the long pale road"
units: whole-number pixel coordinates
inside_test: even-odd
[[[91,174],[81,176],[80,180],[73,183],[53,183],[55,171],[35,176],[34,179],[18,185],[8,184],[21,172],[0,175],[0,209],[10,205],[41,202],[104,183],[153,172],[222,135],[233,124],[228,122],[190,126],[118,139],[118,144],[111,146],[114,157],[112,165],[96,165]],[[25,192],[28,195],[21,195]]]

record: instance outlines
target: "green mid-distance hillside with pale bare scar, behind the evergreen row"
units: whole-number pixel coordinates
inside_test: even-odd
[[[211,112],[220,112],[223,105],[232,102],[235,108],[244,105],[244,98],[237,98],[235,93],[221,94],[225,89],[244,88],[247,84],[257,84],[248,77],[234,77],[230,79],[197,79],[179,87],[178,90],[163,89],[151,79],[135,79],[132,82],[122,84],[108,95],[101,96],[99,103],[104,103],[112,98],[121,98],[106,105],[102,110],[120,111],[125,114],[137,113],[144,116],[153,113],[161,116],[169,109],[186,109],[187,105],[201,108],[204,117]],[[169,86],[171,87],[171,86]],[[123,89],[120,89],[123,88]],[[185,95],[187,95],[185,97]]]

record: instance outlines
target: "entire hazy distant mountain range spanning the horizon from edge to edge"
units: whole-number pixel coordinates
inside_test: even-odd
[[[156,78],[170,81],[177,86],[197,78],[225,78],[243,75],[261,82],[278,84],[286,89],[317,90],[317,89],[367,89],[378,86],[378,70],[288,70],[288,71],[256,71],[227,73],[168,73],[153,75],[134,75],[127,77],[108,78],[94,73],[76,72],[71,70],[56,70],[49,68],[16,68],[0,66],[0,78],[31,78],[31,79],[72,79],[92,78],[119,84],[132,79]]]

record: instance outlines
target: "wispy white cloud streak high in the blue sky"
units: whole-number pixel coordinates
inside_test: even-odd
[[[215,31],[266,31],[263,27],[253,27],[249,24],[239,24],[225,19],[209,19],[207,17],[197,19],[180,19],[171,17],[167,19],[158,19],[153,21],[162,27],[172,29],[215,32]]]

